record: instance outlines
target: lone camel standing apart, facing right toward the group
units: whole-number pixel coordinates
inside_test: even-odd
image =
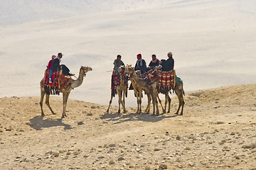
[[[89,71],[92,71],[91,67],[81,66],[78,79],[75,79],[75,80],[69,79],[68,80],[68,86],[65,86],[64,88],[59,89],[59,91],[61,93],[63,93],[63,114],[62,114],[61,118],[65,118],[67,116],[66,113],[65,113],[65,109],[66,109],[66,106],[67,106],[68,96],[70,94],[70,91],[82,84],[83,78],[86,76],[86,73],[89,72]],[[44,78],[40,82],[40,84],[41,84],[41,101],[40,101],[41,116],[44,116],[44,113],[43,113],[43,98],[44,98],[45,95],[46,95],[46,105],[48,106],[48,108],[50,108],[50,103],[49,103],[50,94],[46,93],[46,90],[44,89],[44,86],[43,86],[43,81],[44,81]],[[55,115],[52,108],[50,108],[50,111],[51,111],[51,113],[53,113],[53,115]]]

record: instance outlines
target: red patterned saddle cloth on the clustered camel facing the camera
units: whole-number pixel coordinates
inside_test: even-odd
[[[124,74],[124,72],[119,74],[116,74],[114,71],[112,72],[112,77],[111,77],[112,96],[115,96],[115,94],[117,94],[117,86],[121,84],[121,79],[124,80],[124,84],[127,85],[127,88],[128,88],[128,75]]]

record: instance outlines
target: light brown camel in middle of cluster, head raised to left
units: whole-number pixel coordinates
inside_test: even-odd
[[[148,97],[148,105],[146,106],[146,113],[150,113],[150,102],[152,98],[153,103],[153,115],[156,112],[156,115],[159,115],[158,108],[158,91],[157,91],[157,81],[154,81],[152,84],[149,84],[149,81],[146,79],[141,79],[138,77],[136,72],[134,71],[134,67],[131,65],[127,65],[125,67],[125,72],[129,74],[129,79],[132,82],[132,86],[134,88],[134,94],[137,97],[137,113],[142,113],[142,91],[146,91],[146,95]],[[156,108],[156,111],[155,111]]]

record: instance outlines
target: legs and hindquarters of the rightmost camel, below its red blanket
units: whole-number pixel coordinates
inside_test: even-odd
[[[170,113],[171,98],[169,96],[169,92],[171,93],[171,91],[160,91],[160,93],[165,95],[164,113],[166,113],[167,102],[168,102],[168,111],[167,111],[167,113]],[[183,90],[183,82],[182,81],[176,82],[175,87],[174,87],[174,92],[178,97],[178,110],[175,114],[178,115],[178,111],[181,108],[181,115],[183,115],[183,107],[185,105],[183,96],[185,96],[185,92]]]

